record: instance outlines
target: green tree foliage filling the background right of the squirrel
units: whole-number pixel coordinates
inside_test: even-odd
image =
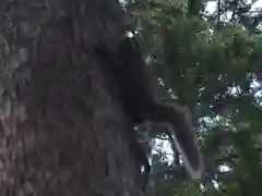
[[[168,164],[159,155],[154,158],[148,195],[261,195],[262,34],[259,14],[250,13],[252,3],[222,0],[219,12],[204,15],[203,0],[195,5],[176,0],[151,0],[143,7],[135,2],[128,7],[135,36],[164,82],[163,97],[198,109],[206,167],[202,181],[191,183],[182,167]],[[231,19],[222,23],[228,11]],[[222,166],[228,170],[222,171]]]

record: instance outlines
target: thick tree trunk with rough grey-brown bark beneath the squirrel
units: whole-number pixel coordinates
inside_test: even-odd
[[[118,2],[1,0],[0,25],[0,195],[138,196],[132,130],[95,52],[117,48]]]

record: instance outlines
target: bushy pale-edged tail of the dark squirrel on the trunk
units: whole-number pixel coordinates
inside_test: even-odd
[[[182,156],[189,175],[193,180],[201,179],[204,164],[203,157],[193,128],[191,112],[179,105],[152,105],[147,119],[166,122],[170,125],[168,136]]]

